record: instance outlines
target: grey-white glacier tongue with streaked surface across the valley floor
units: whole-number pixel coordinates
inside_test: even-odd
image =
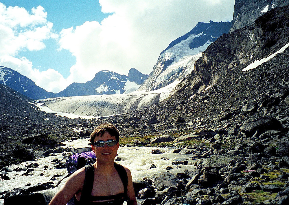
[[[150,92],[135,91],[128,94],[89,95],[36,100],[37,107],[49,113],[61,113],[62,116],[109,116],[128,113],[159,103],[169,97],[171,91],[180,81]],[[48,109],[49,108],[49,109]]]

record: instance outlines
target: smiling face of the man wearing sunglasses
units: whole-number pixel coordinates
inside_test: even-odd
[[[101,137],[95,137],[94,142],[96,141],[108,141],[114,139],[115,136],[111,136],[108,132],[105,132]],[[96,147],[91,145],[93,152],[95,152],[95,156],[97,162],[101,163],[112,163],[117,155],[117,150],[119,148],[119,143],[115,144],[114,146],[108,146],[106,143],[103,147]]]

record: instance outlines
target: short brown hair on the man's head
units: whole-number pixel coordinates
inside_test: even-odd
[[[115,136],[115,140],[119,142],[119,131],[113,124],[106,122],[94,128],[90,135],[90,143],[93,145],[95,137],[101,137],[105,132]]]

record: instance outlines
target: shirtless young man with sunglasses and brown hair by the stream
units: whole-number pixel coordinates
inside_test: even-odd
[[[92,174],[91,177],[93,180],[91,193],[85,193],[86,197],[81,198],[83,189],[87,190],[87,187],[84,188],[86,172],[83,167],[68,178],[49,205],[67,204],[74,195],[77,201],[81,201],[81,204],[123,204],[124,200],[127,201],[127,204],[137,204],[130,170],[114,163],[119,148],[117,128],[111,123],[101,124],[91,133],[90,141],[96,156],[92,171],[94,176]],[[119,169],[125,170],[124,174],[121,174]],[[127,187],[122,180],[125,174],[128,179]]]

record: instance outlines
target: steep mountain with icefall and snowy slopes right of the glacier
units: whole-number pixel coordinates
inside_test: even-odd
[[[138,90],[157,90],[175,80],[183,79],[194,70],[194,62],[200,57],[200,53],[220,35],[227,33],[230,27],[230,22],[198,23],[191,31],[172,41],[161,52],[148,79]]]

